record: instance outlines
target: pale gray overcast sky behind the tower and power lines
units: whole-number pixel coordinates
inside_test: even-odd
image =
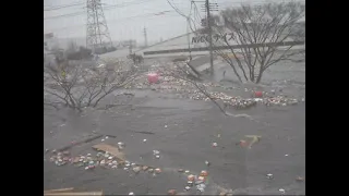
[[[190,0],[170,0],[183,13],[190,11]],[[270,1],[270,0],[269,0]],[[282,1],[282,0],[273,0]],[[180,16],[168,4],[167,0],[101,0],[105,7],[120,5],[106,9],[105,16],[113,41],[137,39],[143,40],[143,28],[147,28],[149,41],[168,39],[186,33],[185,19]],[[265,0],[210,0],[219,4],[219,9],[228,5],[239,5],[241,2],[260,3]],[[44,10],[57,5],[83,3],[75,7],[44,11],[44,19],[84,12],[81,15],[44,20],[44,34],[53,33],[59,38],[84,38],[86,35],[86,0],[44,0]],[[196,3],[198,9],[201,4]],[[147,13],[167,12],[163,15],[146,15]],[[204,15],[202,12],[201,15]],[[130,19],[132,17],[132,19]]]

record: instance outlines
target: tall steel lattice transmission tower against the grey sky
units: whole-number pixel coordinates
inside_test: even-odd
[[[104,53],[112,47],[100,0],[87,0],[86,47]]]

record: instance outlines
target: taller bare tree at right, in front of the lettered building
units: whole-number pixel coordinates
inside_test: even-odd
[[[260,83],[270,65],[286,60],[299,62],[302,59],[296,58],[305,56],[305,48],[294,49],[305,42],[305,26],[300,29],[298,23],[305,17],[305,7],[299,2],[242,5],[220,15],[225,25],[214,26],[215,53],[232,68],[240,82]]]

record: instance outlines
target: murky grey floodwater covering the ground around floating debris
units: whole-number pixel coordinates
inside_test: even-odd
[[[304,64],[284,63],[272,69],[260,88],[276,89],[277,94],[296,98],[305,96]],[[228,71],[226,75],[229,75]],[[243,88],[251,86],[240,87],[241,90],[230,93],[243,95]],[[49,156],[46,155],[45,189],[103,189],[106,195],[167,194],[171,188],[183,192],[186,180],[176,172],[181,168],[194,173],[208,171],[209,182],[203,193],[207,195],[218,194],[220,187],[233,189],[233,194],[274,195],[280,194],[280,188],[290,195],[305,194],[305,182],[296,181],[297,176],[305,177],[305,102],[229,111],[246,113],[255,120],[251,121],[225,117],[209,101],[178,99],[152,90],[133,93],[134,97],[118,96],[118,100],[116,96],[109,97],[105,103],[128,106],[108,111],[86,109],[76,113],[68,109],[44,109],[44,148],[59,148],[93,132],[115,135],[117,137],[108,138],[107,143],[125,143],[128,160],[159,167],[163,173],[152,176],[146,173],[134,175],[122,169],[85,171],[73,166],[56,167],[47,161]],[[237,145],[240,139],[249,139],[245,135],[262,137],[248,149]],[[143,139],[147,142],[143,143]],[[218,146],[213,147],[212,143]],[[91,145],[76,147],[72,154],[93,152]],[[160,151],[159,159],[154,158],[153,150]],[[210,162],[209,167],[205,164],[206,160]],[[268,173],[274,175],[273,180],[266,179]]]

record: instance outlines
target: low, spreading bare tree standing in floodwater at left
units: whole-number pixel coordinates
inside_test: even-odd
[[[136,70],[125,66],[112,71],[105,66],[72,66],[68,62],[45,66],[44,103],[63,103],[79,111],[84,107],[96,107],[107,95],[136,77]]]

